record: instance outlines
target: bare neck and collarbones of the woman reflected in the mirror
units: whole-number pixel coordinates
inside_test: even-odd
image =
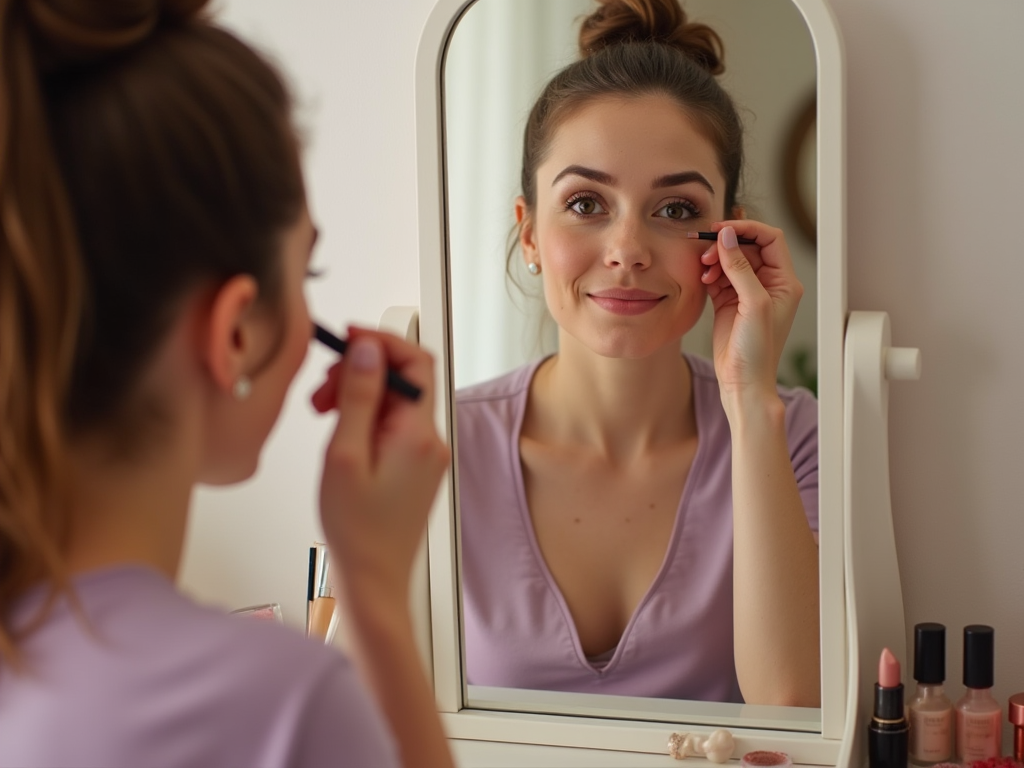
[[[689,366],[676,344],[647,357],[603,357],[566,334],[530,387],[530,425],[545,440],[629,461],[696,435]]]

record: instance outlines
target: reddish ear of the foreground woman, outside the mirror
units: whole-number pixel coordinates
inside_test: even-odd
[[[255,306],[256,280],[238,274],[213,295],[202,347],[210,376],[218,389],[230,392],[239,378],[250,373],[259,355]]]

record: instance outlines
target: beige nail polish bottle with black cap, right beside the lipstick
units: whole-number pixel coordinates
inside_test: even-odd
[[[919,624],[913,628],[913,679],[918,690],[907,703],[910,762],[935,765],[953,752],[953,703],[943,690],[946,680],[946,628]]]

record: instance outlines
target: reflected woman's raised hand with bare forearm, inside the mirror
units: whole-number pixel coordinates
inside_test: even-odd
[[[715,373],[732,437],[736,678],[749,702],[820,706],[818,550],[794,474],[775,377],[804,289],[779,229],[714,225],[701,261]],[[736,236],[756,241],[737,246]]]

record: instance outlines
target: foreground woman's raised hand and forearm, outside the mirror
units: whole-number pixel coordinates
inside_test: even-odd
[[[422,388],[418,400],[387,390],[388,366]],[[433,358],[395,336],[349,329],[348,351],[313,406],[338,409],[321,521],[342,574],[349,653],[391,725],[402,765],[453,768],[409,612],[413,558],[450,457],[434,429]]]

